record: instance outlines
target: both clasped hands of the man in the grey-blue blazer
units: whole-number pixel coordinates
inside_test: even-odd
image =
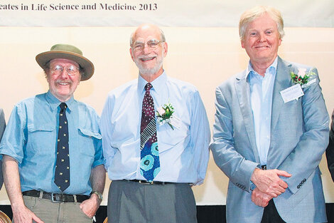
[[[266,207],[273,197],[285,192],[288,184],[281,180],[282,177],[291,177],[289,172],[284,170],[260,170],[256,168],[251,180],[257,186],[252,192],[252,202],[261,207]]]

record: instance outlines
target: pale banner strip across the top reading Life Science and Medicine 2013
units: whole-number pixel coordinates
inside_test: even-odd
[[[236,27],[261,4],[279,9],[286,26],[334,27],[333,0],[2,0],[0,26]]]

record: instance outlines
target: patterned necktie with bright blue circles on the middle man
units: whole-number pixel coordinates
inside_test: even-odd
[[[140,172],[149,182],[160,172],[158,141],[156,139],[156,115],[153,98],[150,94],[151,83],[145,85],[145,95],[141,110],[141,163]]]

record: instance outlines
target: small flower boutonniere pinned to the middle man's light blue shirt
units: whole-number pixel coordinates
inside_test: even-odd
[[[158,120],[158,123],[160,125],[167,123],[172,130],[174,130],[174,128],[180,128],[179,127],[180,119],[176,118],[176,116],[174,116],[173,113],[174,113],[173,105],[171,105],[171,103],[164,104],[162,107],[156,110],[156,118]]]

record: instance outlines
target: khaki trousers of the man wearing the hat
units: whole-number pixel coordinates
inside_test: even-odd
[[[23,196],[24,204],[45,223],[92,223],[79,202],[52,202],[49,199]]]

